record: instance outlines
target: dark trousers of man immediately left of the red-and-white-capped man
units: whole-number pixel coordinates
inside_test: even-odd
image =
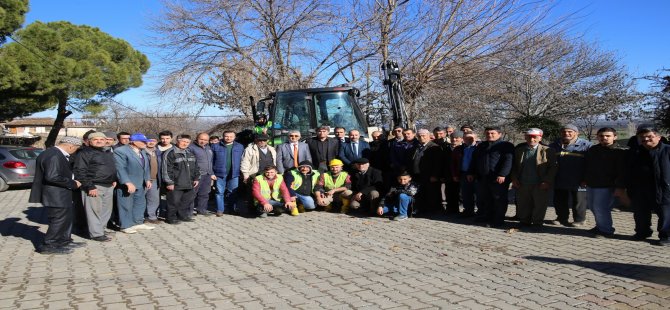
[[[498,184],[495,179],[482,178],[477,183],[477,213],[491,225],[505,223],[509,182]]]

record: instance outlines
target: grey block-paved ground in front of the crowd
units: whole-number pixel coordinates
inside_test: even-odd
[[[670,305],[670,251],[625,240],[633,232],[626,212],[615,214],[621,238],[607,240],[589,238],[586,228],[510,233],[465,222],[315,212],[198,217],[49,256],[33,247],[46,225],[41,208],[27,207],[28,192],[0,193],[1,308]]]

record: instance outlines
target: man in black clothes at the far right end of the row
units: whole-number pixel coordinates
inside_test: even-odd
[[[670,246],[670,145],[661,143],[661,135],[652,127],[637,131],[639,146],[629,151],[627,189],[633,206],[633,240],[651,237],[651,213],[658,215],[658,245]]]

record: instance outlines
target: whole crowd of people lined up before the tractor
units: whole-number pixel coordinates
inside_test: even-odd
[[[331,128],[323,126],[306,139],[291,130],[276,146],[265,132],[257,130],[248,145],[233,131],[193,138],[170,131],[63,137],[38,157],[30,195],[49,218],[41,252],[65,254],[84,245],[71,238],[77,209],[88,237],[99,242],[112,240],[115,231],[134,234],[196,215],[265,218],[314,210],[394,221],[446,215],[503,227],[511,188],[522,228],[583,226],[589,209],[595,218],[590,232],[609,238],[613,207],[630,204],[632,238],[652,236],[655,212],[657,243],[668,245],[670,145],[650,126],[640,127],[628,147],[616,143],[614,128],[598,130],[594,145],[572,124],[549,144],[541,129],[530,128],[516,146],[504,141],[499,127],[486,127],[482,141],[470,126],[447,126],[432,132],[396,127],[388,136],[375,131],[367,142],[358,130],[347,134],[342,127],[329,137]],[[556,219],[546,222],[548,205]]]

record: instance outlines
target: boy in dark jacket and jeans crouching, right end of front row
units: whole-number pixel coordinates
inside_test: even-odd
[[[412,182],[412,177],[407,172],[402,172],[398,175],[398,185],[392,187],[389,192],[382,198],[377,208],[378,215],[384,215],[388,212],[393,212],[396,216],[394,221],[402,221],[407,219],[407,209],[410,203],[414,200],[414,195],[419,190],[419,186]]]

